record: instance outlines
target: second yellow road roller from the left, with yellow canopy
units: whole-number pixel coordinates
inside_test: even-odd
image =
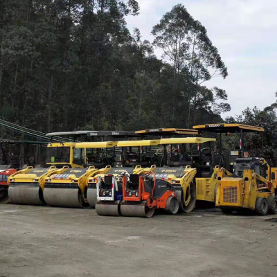
[[[44,199],[50,206],[72,208],[94,207],[89,204],[90,192],[87,179],[101,172],[107,172],[114,161],[116,141],[75,143],[73,162],[82,162],[88,168],[72,168],[62,175],[46,176]],[[85,155],[85,156],[84,156]],[[77,161],[78,160],[78,161]]]

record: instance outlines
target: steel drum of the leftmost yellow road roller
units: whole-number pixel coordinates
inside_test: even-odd
[[[45,205],[39,184],[10,184],[10,202],[19,205]]]

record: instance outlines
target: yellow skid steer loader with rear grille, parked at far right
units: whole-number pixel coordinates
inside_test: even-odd
[[[277,213],[277,197],[265,159],[238,158],[233,177],[223,177],[217,186],[216,206],[223,213],[256,211],[258,215]]]

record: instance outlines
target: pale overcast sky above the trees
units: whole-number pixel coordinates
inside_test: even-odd
[[[143,39],[153,41],[152,27],[177,3],[208,30],[229,75],[214,78],[207,87],[226,89],[232,110],[263,109],[275,102],[277,91],[277,0],[137,0],[140,15],[127,17],[132,32],[139,28]],[[160,57],[161,52],[157,51]]]

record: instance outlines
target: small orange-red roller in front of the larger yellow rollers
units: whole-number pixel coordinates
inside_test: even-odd
[[[130,217],[152,217],[155,209],[177,213],[179,202],[175,188],[168,181],[156,179],[153,172],[123,177],[123,202],[120,213]]]

